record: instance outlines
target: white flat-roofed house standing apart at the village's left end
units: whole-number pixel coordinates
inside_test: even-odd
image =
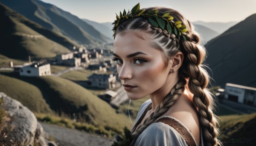
[[[51,75],[51,66],[49,63],[33,63],[20,68],[19,73],[20,76],[29,77]]]

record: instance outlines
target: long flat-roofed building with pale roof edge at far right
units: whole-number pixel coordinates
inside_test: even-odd
[[[256,88],[226,83],[224,98],[256,106]]]

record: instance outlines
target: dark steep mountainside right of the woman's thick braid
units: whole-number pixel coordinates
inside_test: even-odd
[[[256,87],[256,14],[208,42],[206,63],[213,85],[225,83]]]

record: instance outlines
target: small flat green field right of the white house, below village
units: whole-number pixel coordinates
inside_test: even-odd
[[[62,74],[60,77],[68,80],[73,81],[79,81],[79,80],[88,80],[87,77],[89,77],[92,74],[92,72],[82,69],[82,70],[73,70],[71,72],[67,72],[65,74]]]

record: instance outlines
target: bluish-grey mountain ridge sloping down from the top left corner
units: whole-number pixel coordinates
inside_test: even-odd
[[[83,20],[49,3],[39,0],[1,0],[1,3],[80,44],[101,44],[110,40]]]

